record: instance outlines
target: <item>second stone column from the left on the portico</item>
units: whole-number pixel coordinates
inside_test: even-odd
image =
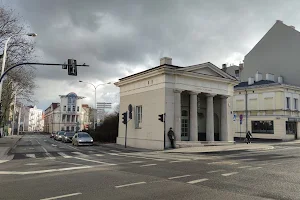
[[[198,106],[196,92],[190,92],[190,141],[198,141]]]

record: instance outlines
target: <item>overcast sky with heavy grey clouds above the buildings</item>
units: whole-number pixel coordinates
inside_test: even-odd
[[[36,32],[40,62],[75,58],[78,76],[61,67],[37,67],[37,106],[45,109],[59,96],[75,92],[93,105],[94,84],[159,65],[212,62],[238,64],[277,19],[300,27],[300,1],[277,0],[0,0]],[[298,29],[299,30],[299,29]],[[116,103],[119,89],[100,86],[97,101]]]

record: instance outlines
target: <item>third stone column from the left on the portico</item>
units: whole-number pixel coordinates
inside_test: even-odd
[[[206,95],[206,141],[215,140],[214,131],[214,96],[213,94]]]

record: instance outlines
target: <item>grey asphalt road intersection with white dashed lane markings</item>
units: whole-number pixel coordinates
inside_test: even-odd
[[[0,164],[0,199],[300,199],[299,147],[175,154],[25,135]]]

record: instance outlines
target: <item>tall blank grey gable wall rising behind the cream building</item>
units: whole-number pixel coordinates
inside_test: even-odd
[[[263,76],[275,74],[275,80],[282,75],[285,83],[300,85],[299,52],[299,32],[277,22],[245,56],[242,80],[247,81],[259,71]]]

